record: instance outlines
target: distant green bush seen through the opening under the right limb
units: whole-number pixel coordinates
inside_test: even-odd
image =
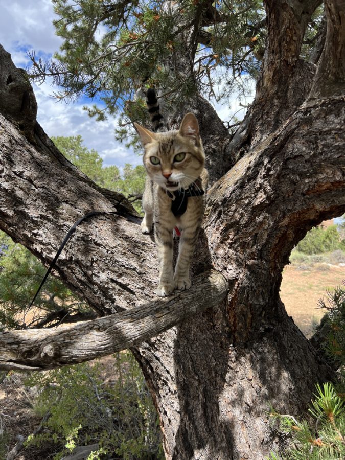
[[[326,229],[312,228],[302,241],[296,246],[297,251],[304,254],[322,254],[323,252],[345,249],[345,242],[341,241],[336,225]]]

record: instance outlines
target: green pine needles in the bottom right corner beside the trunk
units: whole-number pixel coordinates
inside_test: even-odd
[[[330,333],[325,349],[337,364],[338,383],[316,385],[307,419],[281,415],[271,408],[272,421],[278,423],[279,431],[291,440],[286,451],[271,453],[271,460],[345,458],[345,288],[327,292],[327,300],[319,304],[328,310]]]

